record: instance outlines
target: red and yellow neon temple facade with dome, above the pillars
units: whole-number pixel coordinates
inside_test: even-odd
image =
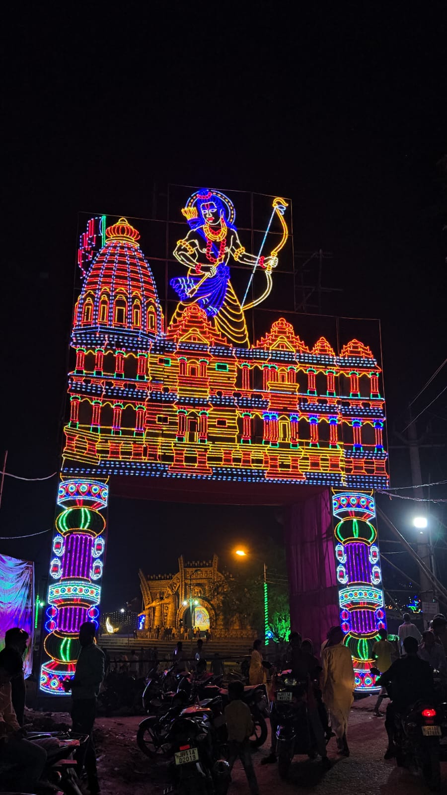
[[[368,347],[308,347],[284,318],[233,347],[196,304],[165,328],[137,238],[107,229],[76,304],[65,473],[387,485]]]

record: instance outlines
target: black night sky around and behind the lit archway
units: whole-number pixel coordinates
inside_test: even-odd
[[[408,402],[445,359],[445,6],[301,5],[15,7],[2,91],[8,471],[59,466],[78,213],[148,218],[154,184],[291,197],[295,250],[333,253],[323,283],[341,292],[324,294],[323,312],[382,321],[388,435],[401,444]],[[415,413],[446,378],[447,367]],[[437,445],[422,449],[424,479],[445,479],[447,392],[418,433]],[[394,486],[410,484],[407,459],[391,448]],[[55,494],[56,478],[6,478],[0,535],[51,527]],[[383,504],[410,537],[413,506]],[[447,524],[441,506],[433,516]],[[233,541],[281,533],[271,507],[112,498],[104,605],[138,594],[140,565],[175,571],[180,553],[225,557]],[[40,577],[50,537],[0,551],[35,560]]]

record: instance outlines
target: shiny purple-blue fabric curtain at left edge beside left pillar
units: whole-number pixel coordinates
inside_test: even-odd
[[[6,630],[13,626],[29,634],[23,663],[26,679],[33,670],[34,564],[0,555],[0,650],[5,646]]]

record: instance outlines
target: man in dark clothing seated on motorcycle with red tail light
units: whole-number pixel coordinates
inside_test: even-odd
[[[416,701],[433,699],[433,672],[429,663],[418,657],[417,639],[408,635],[404,638],[403,649],[404,656],[395,660],[377,680],[377,684],[381,687],[388,688],[391,685],[388,693],[392,701],[387,706],[387,718],[385,719],[388,735],[386,759],[392,759],[395,756],[395,714],[405,712]]]

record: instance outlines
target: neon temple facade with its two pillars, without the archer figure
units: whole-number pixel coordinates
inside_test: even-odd
[[[105,216],[81,237],[41,688],[64,694],[80,623],[99,623],[109,487],[122,475],[332,487],[340,621],[357,686],[371,687],[371,645],[384,626],[371,494],[388,485],[373,352],[357,339],[337,353],[324,337],[305,341],[281,316],[238,347],[195,302],[166,322],[138,238],[126,219],[106,228]],[[186,580],[171,599],[173,626]]]

